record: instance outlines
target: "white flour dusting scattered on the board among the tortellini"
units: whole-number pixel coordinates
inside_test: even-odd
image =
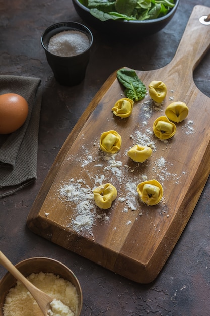
[[[106,153],[100,150],[99,137],[90,142],[83,143],[82,149],[84,156],[71,156],[69,161],[77,162],[78,174],[69,179],[67,183],[62,183],[59,189],[60,198],[67,202],[71,212],[69,214],[68,227],[82,234],[94,236],[94,226],[97,223],[106,223],[110,221],[113,214],[112,205],[108,210],[102,210],[95,204],[93,189],[105,183],[111,183],[117,188],[117,198],[114,205],[118,205],[118,212],[127,216],[129,212],[138,212],[137,214],[144,217],[141,208],[141,201],[136,190],[138,183],[157,179],[163,186],[167,186],[167,181],[173,181],[174,184],[180,184],[180,178],[186,176],[185,171],[180,174],[173,173],[173,164],[167,162],[163,155],[157,156],[157,148],[163,151],[170,150],[169,142],[160,141],[154,136],[153,130],[147,126],[148,120],[154,111],[163,111],[162,104],[155,104],[151,100],[145,100],[139,106],[141,112],[141,126],[134,130],[131,135],[127,136],[127,148],[125,151],[120,150],[117,153]],[[162,114],[161,114],[162,115]],[[140,114],[139,114],[140,116]],[[180,127],[185,129],[185,134],[190,135],[194,132],[193,122],[188,121]],[[81,135],[85,140],[85,135]],[[148,146],[152,149],[153,154],[150,159],[144,163],[131,161],[127,156],[129,148],[135,144]],[[126,163],[125,163],[126,162]],[[93,170],[95,172],[93,172]],[[84,173],[86,176],[84,177]],[[86,181],[85,181],[85,179]],[[164,198],[161,201],[164,205]],[[136,219],[138,216],[136,214]],[[116,215],[115,215],[116,216]],[[168,216],[167,216],[168,217]],[[127,219],[125,225],[133,222],[133,219]],[[119,225],[122,225],[119,223]],[[116,227],[114,228],[117,229]]]

